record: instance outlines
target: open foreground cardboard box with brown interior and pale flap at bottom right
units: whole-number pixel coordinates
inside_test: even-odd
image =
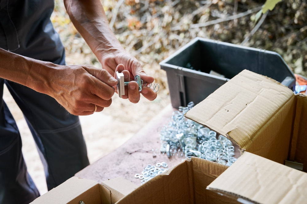
[[[306,201],[306,173],[244,152],[230,167],[198,157],[187,159],[116,204],[286,204]]]

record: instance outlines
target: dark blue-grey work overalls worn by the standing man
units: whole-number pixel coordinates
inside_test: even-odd
[[[53,8],[53,0],[0,0],[0,48],[64,65],[64,47],[50,21]],[[29,125],[45,169],[48,190],[89,164],[78,116],[69,114],[46,94],[3,79],[1,98],[4,83]],[[39,196],[27,172],[21,146],[17,125],[1,99],[0,204],[28,204]]]

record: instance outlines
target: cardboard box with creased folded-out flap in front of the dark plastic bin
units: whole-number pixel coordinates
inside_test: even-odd
[[[247,151],[307,170],[307,97],[274,79],[243,70],[185,117],[228,137]]]

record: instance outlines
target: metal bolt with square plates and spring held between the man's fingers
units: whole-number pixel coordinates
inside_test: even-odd
[[[119,95],[119,98],[122,98],[122,95],[125,95],[125,86],[128,86],[129,82],[125,82],[124,79],[124,74],[123,73],[119,73],[118,71],[116,72],[116,79],[118,81],[117,84],[117,93]],[[135,75],[134,76],[134,81],[136,81],[138,83],[138,91],[142,90],[142,86],[143,86],[143,80],[141,79],[140,75]],[[147,86],[147,82],[145,82],[144,86]],[[151,83],[149,84],[149,88],[151,87]],[[156,88],[158,88],[156,90]],[[154,92],[158,92],[160,86],[159,84],[155,83],[153,85],[153,91]]]

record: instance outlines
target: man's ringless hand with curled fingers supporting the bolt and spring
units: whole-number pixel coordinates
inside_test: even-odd
[[[106,69],[111,75],[114,75],[114,77],[116,77],[115,73],[118,71],[124,74],[125,81],[131,81],[128,86],[125,87],[125,95],[123,95],[122,98],[128,98],[132,103],[137,103],[140,100],[140,93],[150,101],[157,98],[156,92],[144,86],[145,82],[147,82],[147,84],[153,83],[154,78],[147,75],[139,61],[127,52],[120,51],[107,54],[101,59],[101,64],[103,69]],[[143,80],[141,92],[138,90],[138,83],[134,81],[135,75],[140,75]],[[117,90],[115,90],[115,92],[117,93]]]

